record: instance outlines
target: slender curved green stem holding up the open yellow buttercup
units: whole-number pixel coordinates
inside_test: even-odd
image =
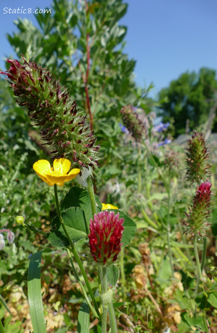
[[[68,240],[69,240],[69,242],[70,242],[72,253],[73,253],[73,255],[74,255],[74,257],[75,257],[75,260],[77,261],[77,263],[78,263],[78,265],[79,265],[79,268],[80,268],[80,270],[81,270],[81,272],[82,272],[82,275],[83,275],[83,277],[84,277],[84,280],[85,280],[85,283],[86,283],[86,285],[87,285],[88,291],[89,291],[89,293],[90,293],[91,299],[92,299],[92,301],[93,301],[93,304],[94,304],[95,310],[96,310],[96,312],[97,312],[99,318],[101,318],[101,314],[100,314],[100,312],[99,312],[99,309],[98,309],[98,306],[97,306],[97,302],[96,302],[96,300],[95,300],[95,297],[94,297],[93,291],[92,291],[91,286],[90,286],[90,283],[89,283],[89,281],[88,281],[88,277],[87,277],[87,275],[86,275],[86,273],[85,273],[85,270],[84,270],[84,267],[83,267],[83,265],[82,265],[82,262],[81,262],[81,260],[80,260],[80,258],[79,258],[79,256],[78,256],[78,254],[77,254],[77,252],[76,252],[75,245],[74,245],[72,239],[70,238],[70,235],[68,234],[68,231],[67,231],[67,229],[66,229],[66,227],[65,227],[65,224],[64,224],[64,221],[63,221],[63,218],[62,218],[61,212],[60,212],[60,205],[59,205],[59,200],[58,200],[58,193],[57,193],[57,185],[56,185],[56,184],[54,184],[54,193],[55,193],[55,200],[56,200],[56,206],[57,206],[57,214],[58,214],[58,217],[59,217],[59,219],[60,219],[61,225],[62,225],[62,227],[63,227],[63,230],[64,230],[65,234],[66,234],[66,237],[68,238]]]

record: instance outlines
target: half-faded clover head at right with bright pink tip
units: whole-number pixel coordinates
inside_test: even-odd
[[[189,211],[185,213],[187,219],[182,220],[185,233],[189,232],[193,237],[195,234],[200,237],[207,236],[206,232],[210,225],[207,222],[207,218],[210,215],[211,185],[209,181],[200,184],[194,195],[193,204],[189,205]]]

